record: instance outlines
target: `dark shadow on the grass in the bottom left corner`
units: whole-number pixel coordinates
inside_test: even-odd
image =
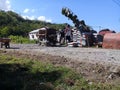
[[[0,90],[53,90],[59,71],[33,73],[25,65],[0,64]]]

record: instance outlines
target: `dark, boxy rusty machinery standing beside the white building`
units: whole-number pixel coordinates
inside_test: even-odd
[[[44,27],[37,33],[39,45],[55,46],[57,43],[57,30]]]

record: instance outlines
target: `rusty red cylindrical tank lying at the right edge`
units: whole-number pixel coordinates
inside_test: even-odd
[[[120,33],[105,34],[102,47],[110,49],[120,49]]]

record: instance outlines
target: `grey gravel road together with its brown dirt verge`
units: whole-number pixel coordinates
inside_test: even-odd
[[[21,44],[12,44],[10,49],[1,50],[4,51],[4,54],[17,58],[30,58],[50,62],[55,66],[72,68],[90,82],[112,84],[120,82],[119,50],[39,47],[37,45]]]

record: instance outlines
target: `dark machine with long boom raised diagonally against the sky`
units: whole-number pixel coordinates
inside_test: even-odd
[[[96,43],[93,33],[97,32],[91,30],[91,28],[85,24],[84,20],[79,20],[77,15],[73,14],[73,12],[67,7],[62,8],[62,14],[72,20],[77,30],[79,30],[79,41],[82,46],[93,46],[94,43]]]

